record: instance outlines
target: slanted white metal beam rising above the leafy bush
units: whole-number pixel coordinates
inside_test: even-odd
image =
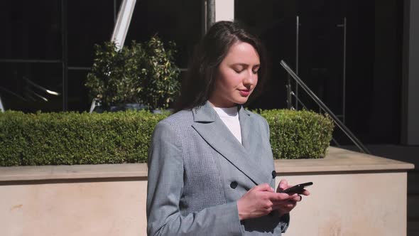
[[[135,6],[136,0],[123,0],[119,7],[118,18],[116,18],[114,32],[111,37],[111,41],[116,43],[118,50],[124,46],[126,33],[128,32]]]

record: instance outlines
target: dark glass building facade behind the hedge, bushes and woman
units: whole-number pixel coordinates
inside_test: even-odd
[[[84,84],[93,45],[110,40],[120,4],[121,0],[1,1],[4,108],[89,110]],[[202,12],[202,1],[197,0],[136,1],[125,44],[157,34],[163,42],[178,45],[176,63],[187,68],[202,37]],[[279,65],[285,60],[335,114],[343,119],[345,113],[347,126],[362,141],[398,142],[403,1],[235,0],[234,16],[261,37],[271,58],[271,81],[251,108],[286,107],[287,77]],[[299,98],[308,109],[318,110],[303,92]]]

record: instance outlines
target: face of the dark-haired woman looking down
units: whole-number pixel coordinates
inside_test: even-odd
[[[215,89],[209,97],[215,107],[244,104],[258,83],[259,55],[249,43],[234,43],[218,66]]]

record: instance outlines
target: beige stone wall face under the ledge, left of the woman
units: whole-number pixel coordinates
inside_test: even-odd
[[[146,235],[146,181],[0,186],[0,235]]]

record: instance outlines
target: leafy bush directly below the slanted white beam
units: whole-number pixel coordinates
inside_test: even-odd
[[[94,45],[94,63],[87,74],[86,87],[91,97],[102,105],[141,103],[138,95],[143,90],[141,60],[145,51],[140,43],[116,49],[114,42]]]

